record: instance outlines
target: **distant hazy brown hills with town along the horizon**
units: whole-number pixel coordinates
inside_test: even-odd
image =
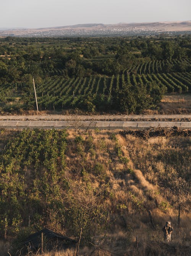
[[[88,23],[49,28],[0,28],[0,36],[128,36],[160,33],[191,33],[191,21]]]

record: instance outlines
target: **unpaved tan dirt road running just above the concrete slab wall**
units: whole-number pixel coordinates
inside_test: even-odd
[[[41,114],[32,116],[0,116],[0,121],[163,121],[163,122],[190,122],[191,114],[181,115],[52,115]]]

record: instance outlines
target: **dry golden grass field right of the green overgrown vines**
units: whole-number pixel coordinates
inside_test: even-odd
[[[68,130],[67,133],[64,178],[70,182],[73,203],[85,209],[85,219],[91,222],[87,225],[83,215],[73,219],[81,222],[84,228],[79,255],[187,256],[191,253],[189,137],[145,139],[106,130],[78,134]],[[6,131],[0,137],[1,152],[8,136],[11,135]],[[65,195],[64,200],[69,197],[65,192],[61,194]],[[98,209],[97,219],[95,215],[90,217],[91,212]],[[69,229],[60,225],[53,211],[48,215],[46,227],[72,236]],[[165,221],[171,221],[174,228],[170,244],[163,241]],[[90,232],[89,241],[86,240],[87,231]],[[9,248],[8,242],[1,242],[0,255],[13,256],[11,250],[7,254]],[[44,256],[53,255],[73,256],[75,249],[44,253]]]

